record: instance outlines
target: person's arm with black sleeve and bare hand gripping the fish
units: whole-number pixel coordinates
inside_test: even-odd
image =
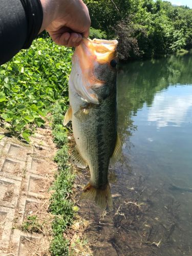
[[[0,0],[0,65],[29,48],[44,29],[56,44],[77,47],[90,24],[82,0]]]

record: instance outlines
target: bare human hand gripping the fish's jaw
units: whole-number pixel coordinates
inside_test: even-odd
[[[82,0],[40,0],[44,19],[40,32],[46,29],[58,45],[76,47],[82,36],[89,36],[91,20]],[[40,33],[39,32],[39,33]]]

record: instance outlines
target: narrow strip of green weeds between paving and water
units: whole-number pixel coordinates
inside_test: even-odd
[[[50,246],[51,254],[54,256],[69,255],[69,241],[63,238],[63,232],[73,223],[74,204],[70,199],[74,175],[69,165],[69,154],[67,144],[67,131],[63,127],[63,101],[53,107],[53,136],[58,148],[55,162],[58,165],[58,174],[53,184],[54,194],[50,199],[50,211],[55,215],[52,223],[53,240]],[[66,108],[66,106],[65,106]]]

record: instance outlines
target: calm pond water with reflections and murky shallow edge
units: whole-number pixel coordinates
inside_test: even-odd
[[[191,54],[119,67],[114,210],[79,211],[94,255],[192,255],[191,70]]]

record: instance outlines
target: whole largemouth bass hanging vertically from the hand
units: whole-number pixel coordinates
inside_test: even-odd
[[[113,208],[108,182],[109,163],[120,155],[117,135],[117,40],[83,38],[72,57],[69,79],[70,108],[64,124],[72,120],[76,150],[73,162],[89,165],[90,183],[81,198],[101,208]]]

